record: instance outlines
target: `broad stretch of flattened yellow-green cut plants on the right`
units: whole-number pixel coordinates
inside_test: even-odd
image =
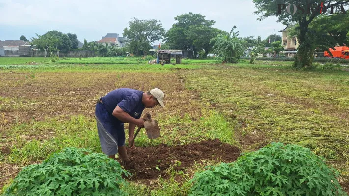
[[[256,131],[348,161],[348,73],[253,68],[182,73],[188,89],[200,92],[204,101],[233,111],[246,124],[240,128],[244,134]]]

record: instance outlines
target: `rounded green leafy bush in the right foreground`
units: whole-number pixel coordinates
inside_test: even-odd
[[[309,149],[272,143],[195,174],[189,196],[347,196],[337,177]]]

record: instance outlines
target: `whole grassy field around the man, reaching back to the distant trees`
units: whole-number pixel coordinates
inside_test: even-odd
[[[36,63],[32,63],[32,62]],[[137,147],[190,144],[218,138],[242,152],[272,141],[298,144],[326,158],[349,179],[349,72],[294,70],[292,62],[183,59],[180,65],[147,64],[142,58],[0,58],[0,188],[22,166],[40,163],[65,147],[101,152],[95,100],[116,88],[158,87],[165,108],[146,109],[161,137],[140,133]],[[126,131],[127,132],[127,131]],[[170,177],[129,180],[131,195],[188,195],[189,179],[214,160]],[[155,182],[156,181],[156,182]],[[153,181],[151,181],[153,182]]]

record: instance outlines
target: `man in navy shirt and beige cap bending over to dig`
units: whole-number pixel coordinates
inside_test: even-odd
[[[164,107],[163,97],[164,93],[158,88],[149,92],[121,88],[99,98],[95,115],[103,153],[115,159],[119,152],[120,159],[129,162],[125,147],[124,123],[129,123],[130,143],[135,127],[144,127],[144,120],[140,118],[144,108],[153,108],[156,105]]]

